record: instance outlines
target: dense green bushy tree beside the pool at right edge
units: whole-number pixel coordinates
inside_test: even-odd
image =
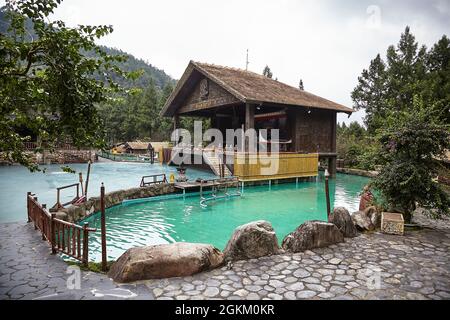
[[[449,125],[415,96],[409,110],[389,115],[380,142],[385,164],[373,185],[387,209],[403,213],[408,222],[416,204],[434,209],[434,216],[448,214],[450,199],[433,179],[440,166],[436,159],[450,148]]]

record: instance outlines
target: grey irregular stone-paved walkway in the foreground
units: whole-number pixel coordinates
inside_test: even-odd
[[[429,225],[185,278],[119,286],[82,271],[80,288],[69,289],[76,270],[50,254],[31,224],[1,224],[0,299],[450,299],[450,224]]]

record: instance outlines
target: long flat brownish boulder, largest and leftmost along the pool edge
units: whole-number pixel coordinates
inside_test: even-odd
[[[125,251],[108,276],[116,282],[184,277],[223,264],[223,253],[209,244],[177,242]]]

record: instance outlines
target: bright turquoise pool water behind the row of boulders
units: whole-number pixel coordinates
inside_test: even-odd
[[[338,174],[330,180],[332,206],[358,209],[363,177]],[[267,220],[278,240],[307,220],[326,220],[324,181],[246,187],[242,197],[208,202],[199,196],[125,204],[106,212],[108,259],[134,246],[179,241],[211,243],[224,249],[233,230],[244,223]],[[99,215],[85,221],[100,228]],[[100,232],[90,236],[90,259],[100,260]]]

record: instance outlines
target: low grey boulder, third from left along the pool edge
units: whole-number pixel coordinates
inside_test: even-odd
[[[288,234],[281,246],[289,252],[300,252],[339,242],[344,242],[344,235],[333,223],[307,221]]]

